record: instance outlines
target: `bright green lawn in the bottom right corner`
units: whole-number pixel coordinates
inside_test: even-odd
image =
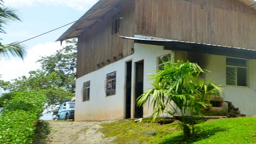
[[[194,135],[185,140],[181,133],[169,134],[159,143],[255,143],[256,118],[215,120],[196,125]]]

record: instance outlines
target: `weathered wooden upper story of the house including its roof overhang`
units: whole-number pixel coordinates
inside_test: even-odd
[[[254,3],[100,0],[58,40],[78,37],[78,78],[133,53],[133,41],[119,36],[143,35],[256,50]]]

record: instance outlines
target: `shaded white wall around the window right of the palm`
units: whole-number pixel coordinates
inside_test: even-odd
[[[226,84],[226,57],[207,54],[209,77],[216,84]],[[224,100],[231,101],[246,115],[256,115],[256,60],[248,60],[248,86],[224,86]]]

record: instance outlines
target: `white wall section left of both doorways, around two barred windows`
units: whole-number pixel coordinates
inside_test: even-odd
[[[123,119],[126,57],[76,80],[75,120]],[[106,97],[106,74],[116,71],[116,94]],[[82,101],[83,83],[90,80],[90,100]]]

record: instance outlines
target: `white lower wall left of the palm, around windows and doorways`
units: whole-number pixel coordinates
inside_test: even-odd
[[[144,91],[151,87],[147,74],[154,73],[157,68],[157,57],[170,53],[163,46],[134,44],[134,54],[99,70],[86,74],[76,80],[76,111],[75,120],[114,120],[124,119],[125,114],[125,77],[126,62],[132,60],[132,92],[131,118],[134,117],[134,81],[135,63],[144,60]],[[104,84],[106,74],[116,71],[116,94],[106,97]],[[82,101],[83,83],[90,80],[90,100]],[[152,108],[143,109],[144,117],[152,114]]]

